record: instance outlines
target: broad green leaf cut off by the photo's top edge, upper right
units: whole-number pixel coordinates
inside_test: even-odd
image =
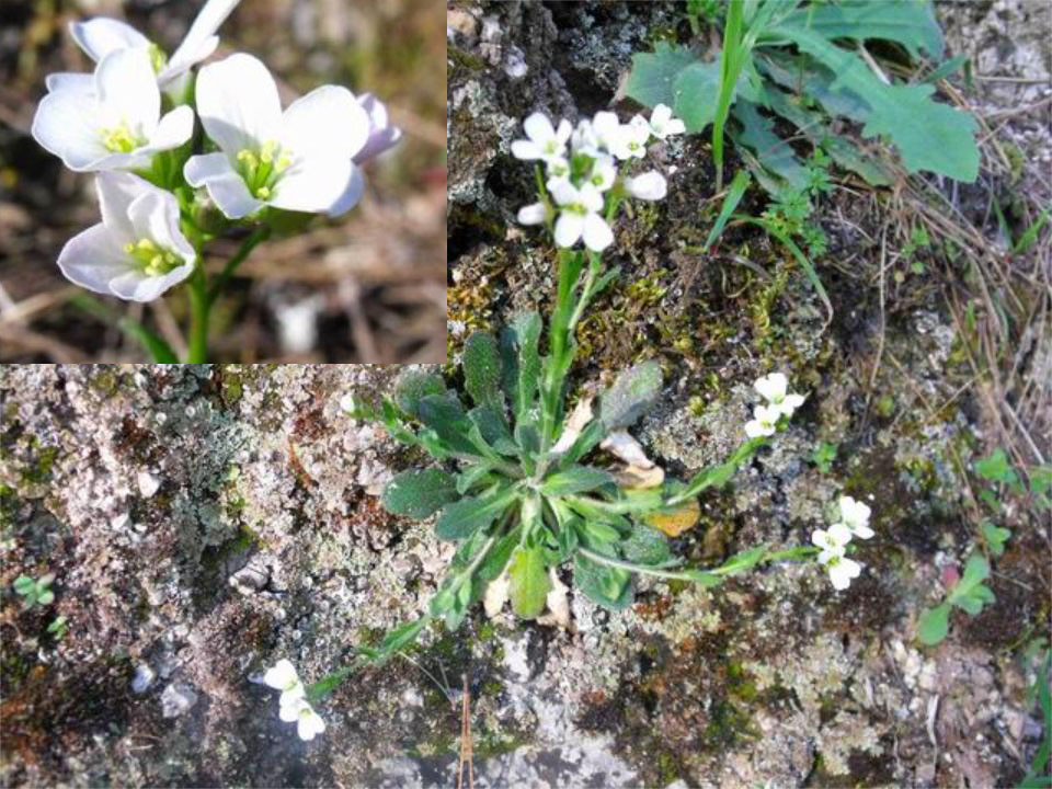
[[[784,26],[810,28],[826,38],[883,38],[902,44],[914,58],[925,50],[942,57],[942,31],[931,3],[917,0],[839,0],[798,9]]]

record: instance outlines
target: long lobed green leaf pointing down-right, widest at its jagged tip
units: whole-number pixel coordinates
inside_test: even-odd
[[[846,88],[862,98],[870,114],[862,135],[884,135],[899,149],[910,172],[927,170],[972,183],[979,175],[977,124],[971,115],[931,101],[929,84],[884,84],[851,52],[831,44],[814,31],[779,25],[800,49],[836,75],[832,88]]]

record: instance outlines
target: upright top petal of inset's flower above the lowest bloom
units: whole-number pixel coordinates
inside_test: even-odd
[[[149,138],[161,117],[161,92],[146,49],[117,49],[95,68],[95,92],[104,127],[127,124]]]

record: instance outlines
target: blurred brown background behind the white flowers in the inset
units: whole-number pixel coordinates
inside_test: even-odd
[[[28,129],[44,78],[90,71],[72,20],[124,19],[169,54],[203,0],[0,0],[0,363],[147,362],[77,304],[56,265],[99,221],[90,174],[67,170]],[[242,0],[215,57],[243,50],[278,80],[283,105],[335,83],[384,101],[402,142],[366,168],[366,196],[338,220],[256,248],[213,311],[210,361],[446,361],[446,44],[435,0]],[[214,241],[221,268],[236,241]],[[100,297],[103,298],[103,297]],[[184,288],[149,305],[104,299],[178,352]]]

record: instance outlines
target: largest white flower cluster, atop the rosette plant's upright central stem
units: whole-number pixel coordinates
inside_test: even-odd
[[[665,176],[655,170],[629,176],[627,165],[647,156],[647,144],[683,134],[683,121],[672,117],[664,104],[654,107],[650,121],[636,115],[621,124],[611,112],[598,112],[576,127],[565,118],[553,125],[544,113],[534,113],[523,124],[526,139],[512,142],[516,159],[544,164],[538,168],[540,201],[518,211],[523,225],[554,220],[556,244],[568,248],[583,240],[593,252],[614,242],[610,222],[618,202],[626,195],[645,201],[667,193]]]

